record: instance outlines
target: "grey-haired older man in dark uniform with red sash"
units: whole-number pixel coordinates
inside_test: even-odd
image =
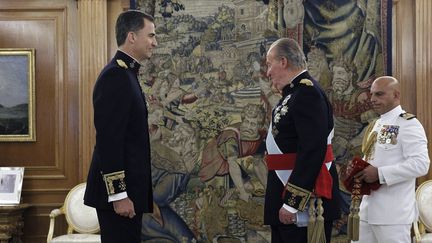
[[[316,221],[321,221],[330,242],[332,222],[340,216],[331,105],[306,71],[303,51],[293,39],[274,42],[267,65],[267,75],[282,98],[273,110],[266,139],[269,172],[264,223],[271,226],[272,242],[322,242],[317,235],[309,235],[308,231],[316,234],[319,227],[308,225],[307,214],[310,202],[322,201],[324,214],[318,212]],[[320,209],[320,203],[314,206]]]

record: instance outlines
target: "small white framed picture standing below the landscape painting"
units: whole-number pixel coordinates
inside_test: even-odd
[[[0,205],[19,204],[24,167],[0,167]]]

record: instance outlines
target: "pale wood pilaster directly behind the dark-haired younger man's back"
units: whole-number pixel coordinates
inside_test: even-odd
[[[93,147],[92,91],[99,72],[107,63],[107,1],[78,0],[79,16],[79,178],[87,178]]]

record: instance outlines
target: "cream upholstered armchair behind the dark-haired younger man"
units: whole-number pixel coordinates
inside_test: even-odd
[[[47,243],[100,243],[99,222],[94,208],[84,205],[84,192],[86,183],[72,188],[66,196],[63,206],[50,213],[50,226]],[[53,238],[55,218],[64,214],[68,224],[66,235]],[[76,233],[74,233],[76,232]]]

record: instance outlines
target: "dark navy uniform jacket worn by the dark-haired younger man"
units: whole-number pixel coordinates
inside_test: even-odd
[[[117,51],[93,91],[96,145],[84,203],[96,208],[98,217],[104,212],[112,215],[104,217],[113,221],[105,223],[112,224],[112,230],[118,221],[141,227],[142,214],[153,211],[148,111],[137,79],[139,68],[137,61]],[[108,202],[108,195],[121,192],[134,203],[136,216],[132,220],[116,215],[112,202]],[[121,242],[129,241],[123,238]]]

